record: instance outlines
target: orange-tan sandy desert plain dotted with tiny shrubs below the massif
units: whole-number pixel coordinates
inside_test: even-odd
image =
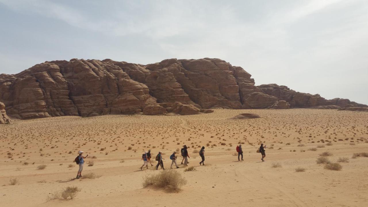
[[[228,119],[239,113],[261,118]],[[0,126],[0,206],[365,207],[368,158],[351,157],[368,152],[367,140],[367,112],[321,109],[15,120]],[[268,147],[265,162],[256,153],[261,142]],[[244,151],[240,162],[234,156],[238,143],[243,143]],[[146,175],[162,170],[141,171],[142,152],[163,151],[164,166],[170,168],[170,154],[184,144],[190,146],[189,165],[196,166],[196,171],[184,172],[183,165],[174,169],[187,179],[182,190],[143,188]],[[199,166],[201,159],[194,152],[202,145],[206,146],[205,166]],[[89,154],[83,174],[93,172],[100,178],[74,179],[78,168],[72,161],[78,150]],[[339,157],[349,162],[340,163],[340,171],[324,169],[316,159],[325,151],[332,153],[328,157],[332,162]],[[94,165],[87,166],[89,161]],[[273,168],[276,162],[281,167]],[[46,168],[37,169],[42,164]],[[298,167],[305,172],[296,172]],[[9,185],[14,178],[19,183]],[[74,199],[47,201],[47,196],[68,186],[81,189]]]

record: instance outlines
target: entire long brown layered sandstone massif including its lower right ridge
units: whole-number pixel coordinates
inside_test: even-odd
[[[15,75],[0,74],[0,101],[9,116],[167,113],[160,103],[179,102],[173,113],[211,108],[309,108],[366,106],[348,99],[326,100],[276,84],[256,87],[244,69],[220,59],[167,59],[148,65],[105,60],[56,60]],[[282,102],[286,101],[286,102]],[[158,105],[159,103],[159,105]],[[162,108],[164,109],[162,109]],[[194,107],[196,110],[193,110]]]

